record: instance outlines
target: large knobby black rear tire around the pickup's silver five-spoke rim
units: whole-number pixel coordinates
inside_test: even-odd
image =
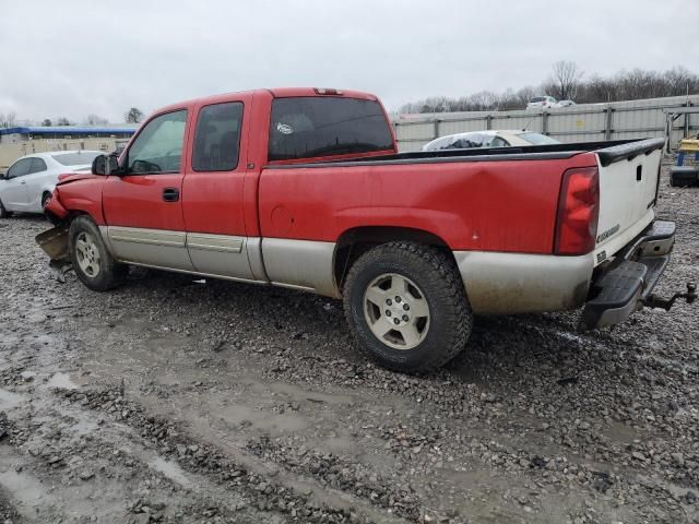
[[[365,291],[387,274],[412,281],[427,301],[428,330],[412,348],[391,347],[369,326],[368,310],[374,306],[365,302]],[[473,313],[463,281],[454,261],[436,248],[407,241],[378,246],[352,265],[343,291],[345,315],[359,348],[387,368],[403,372],[440,368],[464,349],[471,335]],[[389,319],[380,320],[390,325],[388,307],[386,314]]]

